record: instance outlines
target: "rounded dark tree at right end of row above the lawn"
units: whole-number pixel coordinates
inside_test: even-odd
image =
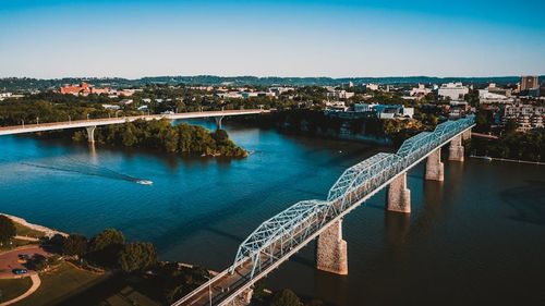
[[[125,272],[142,270],[157,262],[157,252],[150,243],[128,243],[121,249],[118,262]]]

